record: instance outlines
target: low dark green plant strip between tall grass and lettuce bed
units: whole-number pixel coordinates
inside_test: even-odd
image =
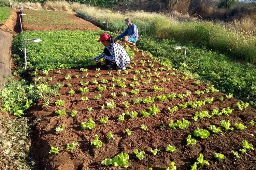
[[[141,36],[139,48],[154,56],[168,59],[174,68],[183,70],[184,50],[173,49],[178,43],[171,40]],[[187,45],[184,71],[197,73],[201,80],[211,83],[225,94],[250,102],[256,107],[256,67],[229,60],[225,55]]]

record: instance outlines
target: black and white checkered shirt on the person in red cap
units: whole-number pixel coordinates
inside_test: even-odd
[[[110,46],[106,47],[112,56],[106,56],[103,52],[99,56],[95,57],[95,60],[100,60],[105,57],[110,61],[116,62],[118,69],[122,69],[130,63],[130,57],[126,53],[125,49],[118,43],[110,43]]]

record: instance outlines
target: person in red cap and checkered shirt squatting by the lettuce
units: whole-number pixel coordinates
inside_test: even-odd
[[[125,49],[116,41],[112,36],[107,33],[100,35],[98,42],[101,42],[105,47],[103,53],[95,58],[91,58],[91,61],[100,60],[103,58],[103,62],[108,68],[117,70],[125,70],[126,66],[130,63],[130,57],[126,53]]]

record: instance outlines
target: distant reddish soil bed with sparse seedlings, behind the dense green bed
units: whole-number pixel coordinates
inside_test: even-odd
[[[92,23],[65,12],[24,10],[24,14],[24,30],[100,30]]]

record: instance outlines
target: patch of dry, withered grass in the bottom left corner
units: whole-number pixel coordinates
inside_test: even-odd
[[[32,125],[30,120],[3,117],[0,124],[1,169],[31,169],[34,162],[29,157],[31,143],[28,134]]]

